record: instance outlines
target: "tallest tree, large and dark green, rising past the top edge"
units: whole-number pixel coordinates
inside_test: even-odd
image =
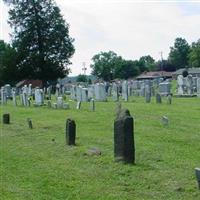
[[[75,49],[67,24],[53,0],[4,0],[10,4],[13,47],[19,55],[21,78],[43,82],[68,74]]]

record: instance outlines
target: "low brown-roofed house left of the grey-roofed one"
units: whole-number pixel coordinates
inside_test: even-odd
[[[166,72],[166,71],[143,72],[142,74],[136,77],[137,80],[145,80],[145,79],[153,80],[157,78],[170,79],[172,78],[172,72]]]

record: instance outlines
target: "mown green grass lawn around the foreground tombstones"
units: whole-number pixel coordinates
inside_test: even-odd
[[[174,98],[172,105],[164,99],[158,105],[134,97],[122,103],[135,119],[136,165],[114,162],[114,102],[96,102],[95,112],[87,103],[81,110],[74,102],[70,106],[1,106],[11,124],[0,124],[0,199],[200,199],[194,174],[200,166],[200,99]],[[163,115],[168,127],[161,124]],[[75,147],[65,145],[67,118],[76,121]],[[84,155],[91,147],[102,155]]]

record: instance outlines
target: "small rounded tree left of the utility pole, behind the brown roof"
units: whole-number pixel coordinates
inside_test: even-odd
[[[142,56],[139,59],[138,66],[141,72],[144,71],[154,71],[155,70],[155,60],[150,56]]]

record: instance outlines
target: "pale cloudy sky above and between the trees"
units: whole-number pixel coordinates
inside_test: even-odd
[[[200,39],[200,0],[55,0],[75,39],[70,76],[91,73],[91,58],[114,51],[124,59],[167,59],[177,37]],[[0,3],[0,39],[10,41],[8,8]]]

